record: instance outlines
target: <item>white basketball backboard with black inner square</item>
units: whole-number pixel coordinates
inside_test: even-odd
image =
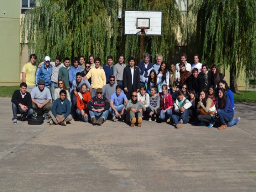
[[[146,35],[162,35],[162,11],[125,10],[124,34],[140,34],[140,27],[146,27]]]

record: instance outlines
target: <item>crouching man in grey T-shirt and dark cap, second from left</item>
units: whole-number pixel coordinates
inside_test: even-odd
[[[38,86],[31,91],[32,108],[33,110],[44,110],[44,118],[48,119],[48,112],[52,108],[52,100],[50,90],[45,87],[45,81],[43,79],[38,80]],[[34,115],[36,115],[34,113]]]

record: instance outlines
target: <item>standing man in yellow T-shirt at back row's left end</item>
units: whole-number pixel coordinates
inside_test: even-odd
[[[27,92],[31,92],[36,87],[36,54],[30,55],[30,62],[22,68],[22,82],[27,84]]]

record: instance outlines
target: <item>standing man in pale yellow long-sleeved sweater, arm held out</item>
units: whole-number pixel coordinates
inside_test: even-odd
[[[103,70],[103,68],[100,68],[100,58],[96,57],[94,59],[95,67],[92,68],[86,76],[84,76],[84,80],[88,80],[91,78],[92,84],[92,90],[90,90],[91,97],[96,96],[96,89],[102,88],[104,85],[106,85],[106,75]]]

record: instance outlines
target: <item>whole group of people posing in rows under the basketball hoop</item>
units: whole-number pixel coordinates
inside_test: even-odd
[[[169,66],[158,55],[156,64],[150,62],[150,54],[135,66],[135,58],[124,64],[124,55],[113,66],[112,56],[107,64],[89,56],[70,59],[56,56],[55,62],[46,56],[36,68],[36,55],[22,68],[20,90],[12,96],[13,124],[37,116],[44,111],[50,124],[72,120],[101,125],[112,121],[126,121],[130,126],[141,126],[143,120],[167,123],[176,128],[191,122],[212,127],[220,123],[219,129],[236,124],[234,96],[228,89],[225,77],[216,65],[208,69],[194,55],[194,64],[186,62],[186,54],[176,65]],[[52,102],[51,102],[52,101]],[[17,116],[21,114],[21,116]]]

